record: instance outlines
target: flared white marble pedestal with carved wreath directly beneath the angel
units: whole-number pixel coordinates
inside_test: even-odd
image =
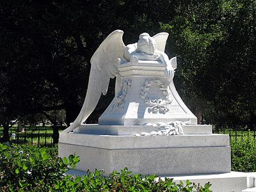
[[[196,116],[180,99],[173,81],[164,76],[160,61],[123,63],[120,91],[99,118],[99,125],[143,125],[156,122],[189,122]]]

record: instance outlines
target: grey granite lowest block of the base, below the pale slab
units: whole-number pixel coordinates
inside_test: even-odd
[[[229,147],[126,148],[104,149],[59,144],[59,156],[75,152],[80,157],[76,169],[113,170],[128,167],[136,174],[179,175],[230,172]]]

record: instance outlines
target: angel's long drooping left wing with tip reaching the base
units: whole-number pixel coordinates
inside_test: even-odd
[[[106,95],[109,79],[118,76],[118,58],[124,57],[125,45],[122,40],[123,34],[124,32],[121,30],[113,31],[93,54],[83,107],[76,120],[63,132],[70,132],[83,124],[96,108],[101,93]]]

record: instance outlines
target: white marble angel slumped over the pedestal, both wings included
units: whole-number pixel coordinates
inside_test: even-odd
[[[124,61],[161,61],[166,66],[164,75],[168,81],[172,81],[176,68],[176,58],[169,60],[167,54],[164,53],[168,33],[158,33],[152,37],[148,33],[142,33],[138,43],[127,46],[122,40],[123,34],[124,31],[121,30],[113,31],[93,54],[83,107],[76,120],[63,132],[70,132],[85,122],[97,106],[101,93],[106,95],[110,78],[116,77],[115,93],[119,92],[121,78],[118,73],[118,66],[121,64],[118,59]]]

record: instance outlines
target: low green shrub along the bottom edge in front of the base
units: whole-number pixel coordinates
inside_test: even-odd
[[[75,186],[75,188],[74,188]],[[57,188],[56,188],[57,187]],[[192,184],[189,180],[186,185],[182,182],[175,184],[173,179],[158,179],[156,175],[131,174],[124,168],[121,173],[112,172],[109,177],[102,176],[102,171],[88,172],[83,177],[65,177],[56,189],[73,189],[72,191],[210,191],[211,184],[207,183],[204,187],[199,184]]]

